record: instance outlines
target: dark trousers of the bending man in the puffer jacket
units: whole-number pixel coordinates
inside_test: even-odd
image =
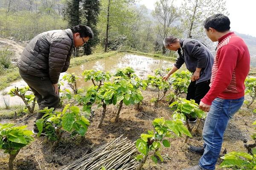
[[[54,87],[49,77],[36,77],[20,71],[20,76],[29,85],[29,88],[35,95],[39,110],[56,108],[59,102],[59,95],[54,92]],[[36,119],[41,119],[44,113],[37,113]]]

